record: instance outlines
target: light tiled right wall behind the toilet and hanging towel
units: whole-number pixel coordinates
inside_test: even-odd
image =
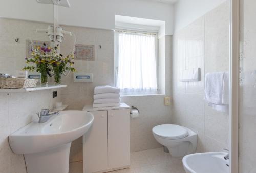
[[[198,133],[197,152],[228,148],[228,114],[204,100],[204,75],[228,71],[229,4],[225,2],[174,35],[172,122]],[[200,82],[180,82],[181,71],[201,68]]]

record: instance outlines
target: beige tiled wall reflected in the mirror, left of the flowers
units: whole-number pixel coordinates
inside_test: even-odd
[[[26,40],[50,41],[38,28],[48,28],[46,23],[0,18],[0,73],[16,75],[25,66]],[[19,41],[16,42],[15,39]]]

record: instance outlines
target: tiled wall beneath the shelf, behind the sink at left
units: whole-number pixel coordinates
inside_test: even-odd
[[[1,173],[27,172],[23,155],[16,155],[11,151],[8,136],[38,118],[36,113],[41,109],[53,107],[59,100],[59,96],[52,98],[52,90],[0,93]]]

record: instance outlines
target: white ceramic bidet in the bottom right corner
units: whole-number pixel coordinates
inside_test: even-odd
[[[187,173],[228,173],[226,155],[226,152],[196,153],[183,157],[182,162]]]

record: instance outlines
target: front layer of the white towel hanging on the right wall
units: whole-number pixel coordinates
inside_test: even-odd
[[[222,104],[224,72],[207,73],[205,75],[205,100],[214,104]]]

